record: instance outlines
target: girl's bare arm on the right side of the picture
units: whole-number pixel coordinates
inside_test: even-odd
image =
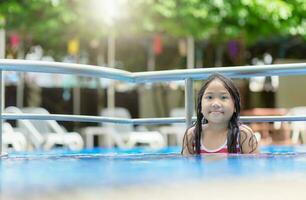
[[[259,153],[259,144],[252,129],[247,125],[241,125],[239,129],[242,153]]]

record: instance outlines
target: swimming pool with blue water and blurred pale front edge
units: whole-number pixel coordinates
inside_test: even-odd
[[[240,196],[233,199],[250,192],[252,199],[265,190],[269,199],[306,197],[305,146],[264,147],[256,156],[182,157],[179,151],[180,147],[9,154],[0,160],[1,199],[231,199],[235,190],[232,195]]]

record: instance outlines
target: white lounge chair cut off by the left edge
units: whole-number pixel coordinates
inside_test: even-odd
[[[16,132],[7,122],[4,122],[2,125],[2,149],[3,151],[27,150],[27,140],[25,136],[20,132]]]

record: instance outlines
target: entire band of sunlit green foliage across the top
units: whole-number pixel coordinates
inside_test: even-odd
[[[25,49],[41,44],[53,54],[64,54],[73,37],[87,44],[110,30],[221,43],[237,37],[249,43],[278,36],[306,38],[304,0],[126,0],[119,10],[123,17],[112,27],[105,22],[101,5],[94,6],[101,1],[108,0],[1,0],[0,21],[5,21],[2,26],[8,35],[16,32],[22,37]]]

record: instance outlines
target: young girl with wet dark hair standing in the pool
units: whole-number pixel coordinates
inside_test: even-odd
[[[186,130],[182,154],[257,153],[251,128],[239,123],[240,95],[232,80],[211,75],[198,95],[197,121]]]

